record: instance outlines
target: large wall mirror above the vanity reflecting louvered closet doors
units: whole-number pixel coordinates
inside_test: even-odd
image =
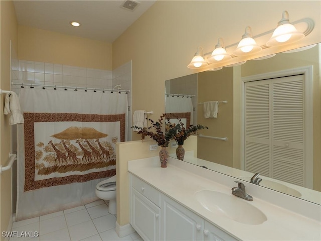
[[[321,204],[320,48],[167,80],[166,113],[209,127],[184,161]]]

